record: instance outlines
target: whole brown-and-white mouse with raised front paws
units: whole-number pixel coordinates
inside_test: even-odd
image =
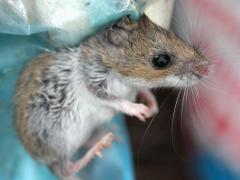
[[[16,85],[17,134],[34,159],[71,179],[111,146],[108,132],[71,160],[95,128],[119,112],[144,122],[158,112],[151,88],[194,86],[210,66],[197,48],[147,16],[123,17],[79,46],[43,53],[26,65]]]

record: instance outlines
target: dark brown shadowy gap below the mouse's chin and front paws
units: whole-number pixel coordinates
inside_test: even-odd
[[[180,118],[172,119],[177,90],[154,91],[160,112],[147,123],[126,117],[137,180],[188,180],[189,143]],[[181,103],[178,104],[180,106]],[[175,116],[180,116],[180,108]],[[185,131],[184,131],[185,130]]]

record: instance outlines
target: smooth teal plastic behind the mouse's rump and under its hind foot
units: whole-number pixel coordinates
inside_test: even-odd
[[[27,153],[13,127],[15,84],[24,65],[49,46],[38,35],[0,34],[0,180],[55,180],[46,166]],[[104,151],[81,173],[86,180],[133,180],[131,152],[122,116],[112,121],[120,143]]]

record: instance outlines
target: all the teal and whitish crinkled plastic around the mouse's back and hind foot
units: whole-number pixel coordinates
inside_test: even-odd
[[[124,15],[138,16],[130,0],[0,0],[0,179],[54,180],[24,150],[13,128],[16,80],[26,63],[50,44],[79,43]],[[42,34],[49,41],[43,40]],[[34,35],[33,35],[34,34]],[[51,42],[51,43],[49,43]],[[114,118],[121,139],[81,172],[87,180],[133,180],[131,152],[122,116]]]

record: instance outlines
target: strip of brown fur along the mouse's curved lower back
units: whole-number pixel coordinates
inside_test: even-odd
[[[21,138],[24,147],[34,156],[42,155],[44,148],[39,148],[40,144],[33,144],[33,142],[38,142],[37,140],[30,141],[34,136],[30,128],[30,121],[28,121],[27,109],[31,99],[37,94],[41,86],[44,69],[48,68],[53,59],[53,55],[51,54],[43,54],[34,59],[27,65],[17,84],[18,91],[15,96],[15,116],[18,118],[15,118],[15,127],[20,137],[24,137]]]

